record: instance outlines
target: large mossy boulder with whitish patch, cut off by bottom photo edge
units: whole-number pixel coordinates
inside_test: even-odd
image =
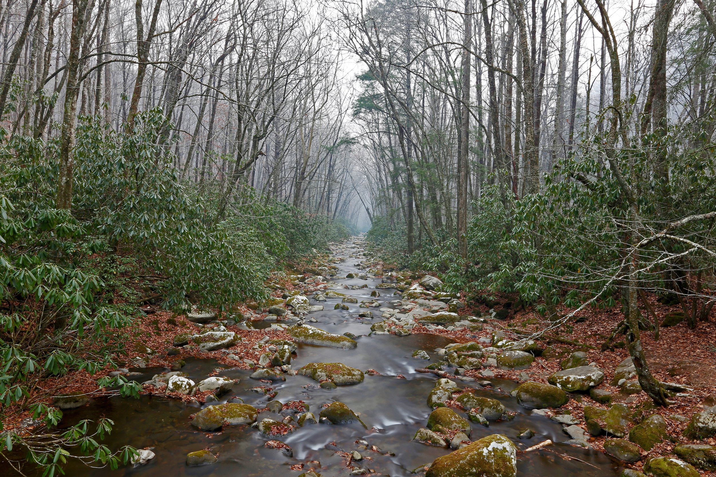
[[[517,448],[508,438],[493,434],[432,462],[425,477],[515,477]]]

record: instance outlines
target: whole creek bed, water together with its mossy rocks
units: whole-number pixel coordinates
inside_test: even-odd
[[[252,369],[188,358],[173,375],[161,368],[132,370],[139,382],[202,393],[205,403],[142,395],[138,400],[97,398],[65,410],[63,426],[104,416],[115,423],[107,446],[143,449],[143,463],[135,466],[117,471],[71,466],[67,475],[621,475],[628,458],[592,449],[584,429],[576,426],[579,420],[545,409],[566,403],[565,390],[594,386],[604,378],[599,370],[576,355],[569,363],[573,371],[553,377],[556,386],[489,373],[455,375],[455,369],[480,369],[486,345],[496,345],[499,335],[490,343],[458,344],[412,333],[412,324],[419,322],[459,326],[458,305],[425,300],[407,306],[403,300],[410,290],[395,295],[390,284],[365,275],[355,263],[361,255],[357,243],[337,247],[337,275],[330,285],[311,297],[296,295],[286,305],[275,305],[269,320],[217,323],[209,332],[216,336],[185,337],[201,349],[221,340],[226,343],[215,349],[231,346],[231,336],[222,333],[236,326],[290,337],[261,340],[257,346],[266,353],[258,363],[251,361]],[[462,326],[479,323],[478,318],[465,321]],[[388,333],[395,323],[402,323],[400,333]],[[533,355],[516,350],[489,359],[520,369]],[[594,426],[611,426],[595,433],[619,437],[618,409],[590,412]],[[531,449],[547,440],[552,443]],[[616,442],[612,455],[629,453],[629,441],[621,441],[626,444]]]

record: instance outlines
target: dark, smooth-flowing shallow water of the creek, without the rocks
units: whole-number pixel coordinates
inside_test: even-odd
[[[344,258],[339,266],[339,275],[349,272],[359,272],[354,263],[360,259],[348,257],[361,252],[359,248],[348,244],[342,247],[335,256]],[[374,286],[380,279],[335,280],[334,290],[357,297],[360,300],[368,299]],[[345,289],[344,285],[363,285],[368,288],[359,290]],[[378,298],[390,306],[388,302],[395,300],[392,290],[380,290],[382,296]],[[118,448],[125,444],[136,448],[153,448],[155,458],[145,466],[120,467],[117,471],[107,468],[94,469],[72,465],[67,468],[68,476],[292,476],[296,477],[310,468],[322,473],[324,477],[348,476],[350,471],[345,468],[345,461],[334,451],[354,451],[359,444],[355,441],[364,439],[369,446],[377,446],[381,453],[363,451],[362,454],[372,458],[356,463],[364,468],[374,469],[377,473],[390,476],[410,476],[411,470],[430,463],[433,459],[448,453],[447,448],[427,446],[412,441],[417,429],[424,427],[430,408],[425,400],[433,388],[437,376],[415,372],[427,363],[423,360],[411,358],[412,352],[424,349],[435,358],[435,348],[450,343],[450,340],[435,335],[413,334],[406,337],[396,335],[372,335],[370,325],[379,320],[357,318],[359,310],[357,304],[347,304],[350,310],[333,310],[340,298],[329,298],[324,305],[326,310],[310,313],[318,323],[309,323],[331,333],[343,334],[346,332],[358,335],[358,346],[354,350],[341,350],[316,345],[299,345],[297,357],[291,361],[294,369],[312,362],[339,362],[363,371],[374,369],[380,375],[366,375],[358,385],[339,386],[334,390],[319,388],[311,378],[303,375],[286,376],[285,382],[274,383],[271,388],[276,391],[274,399],[286,403],[289,400],[304,400],[311,411],[318,413],[321,405],[332,401],[341,401],[358,413],[366,423],[367,429],[359,424],[343,426],[330,426],[324,424],[306,425],[296,428],[296,431],[286,436],[278,436],[282,441],[293,448],[294,456],[289,458],[279,449],[264,448],[263,443],[268,441],[251,426],[226,426],[221,432],[200,432],[190,425],[189,415],[198,412],[198,407],[186,405],[177,400],[160,398],[157,396],[142,396],[140,399],[102,398],[92,400],[89,405],[75,410],[67,410],[64,414],[65,426],[76,423],[80,419],[95,420],[100,416],[115,421],[112,434],[105,439],[110,448]],[[311,304],[316,304],[311,300]],[[377,309],[372,308],[378,317]],[[306,317],[309,318],[309,317]],[[256,325],[256,323],[254,323]],[[258,324],[257,328],[261,328]],[[182,369],[189,377],[198,382],[211,371],[220,366],[215,360],[187,360]],[[142,370],[145,375],[137,376],[139,382],[148,380],[161,369]],[[234,386],[233,391],[223,396],[222,402],[228,398],[238,396],[255,406],[263,408],[270,400],[266,395],[256,393],[255,388],[262,383],[248,376],[251,370],[238,370],[228,368],[219,375],[229,378],[238,378],[240,383]],[[398,378],[397,375],[405,377]],[[146,377],[145,377],[146,376]],[[460,386],[480,388],[474,382],[463,383],[456,380]],[[511,380],[493,380],[493,389],[478,389],[478,395],[496,398],[505,404],[509,410],[518,412],[513,421],[490,422],[485,428],[473,423],[470,438],[475,441],[481,437],[494,433],[501,433],[513,439],[518,448],[524,449],[533,446],[545,439],[555,442],[566,441],[569,436],[563,433],[561,425],[550,421],[542,415],[531,415],[531,411],[522,408],[508,392],[517,383]],[[463,416],[460,410],[457,410]],[[281,420],[281,416],[264,411],[259,415],[262,418]],[[518,439],[519,433],[526,428],[532,429],[535,436],[531,439]],[[336,447],[330,443],[335,443]],[[185,455],[188,452],[208,448],[215,455],[218,462],[212,465],[187,467]],[[384,455],[387,451],[395,456]],[[571,456],[566,458],[564,456]],[[584,450],[557,443],[551,446],[551,451],[539,450],[518,454],[519,476],[616,476],[620,466],[611,461],[603,453]],[[304,464],[302,471],[294,471],[289,467],[294,464]],[[29,468],[27,468],[29,471]]]

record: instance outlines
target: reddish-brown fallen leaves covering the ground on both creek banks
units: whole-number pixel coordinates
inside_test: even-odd
[[[301,294],[309,295],[314,292],[326,290],[328,282],[314,274],[317,267],[325,267],[329,265],[328,257],[319,257],[312,263],[307,263],[299,267],[304,275],[303,282],[296,282],[295,276],[291,277],[289,273],[281,273],[271,280],[271,286],[276,290],[272,293],[274,297],[281,297],[284,292],[292,290],[300,290]],[[383,264],[364,260],[362,268],[375,270],[374,276],[382,275]],[[385,267],[388,270],[389,267]],[[392,279],[395,280],[396,273],[393,272]],[[422,276],[422,275],[421,275]],[[408,275],[399,278],[405,279]],[[412,280],[415,284],[417,280]],[[679,310],[677,306],[668,306],[658,303],[655,297],[648,298],[652,308],[661,319],[667,313]],[[415,300],[410,300],[415,303]],[[493,303],[493,309],[502,308],[502,305],[508,301],[508,297]],[[464,299],[463,299],[464,302]],[[460,310],[460,315],[483,315],[486,316],[486,323],[482,330],[475,328],[456,328],[440,327],[434,325],[416,324],[410,333],[430,333],[433,335],[442,335],[451,338],[458,343],[467,341],[475,341],[480,338],[491,338],[495,331],[503,331],[506,336],[510,336],[512,330],[518,330],[520,333],[536,333],[546,325],[546,318],[538,315],[531,308],[510,310],[507,318],[497,320],[489,318],[488,307],[485,305],[475,305],[474,303],[466,303],[465,308]],[[428,310],[428,308],[424,308]],[[266,310],[258,307],[256,303],[243,304],[236,310],[243,315],[244,320],[262,320],[266,318]],[[558,313],[569,313],[570,310],[561,309]],[[127,343],[127,355],[124,359],[127,368],[132,366],[132,360],[142,359],[147,367],[165,367],[169,369],[179,369],[180,362],[186,358],[213,358],[219,363],[231,365],[234,368],[249,369],[258,363],[261,353],[266,350],[262,345],[265,337],[271,339],[290,339],[283,330],[266,328],[263,330],[244,330],[237,325],[229,325],[227,328],[241,336],[242,340],[233,345],[228,350],[217,350],[211,352],[200,352],[197,348],[185,348],[180,350],[180,354],[172,355],[168,351],[176,349],[173,346],[173,337],[180,333],[195,333],[196,325],[186,320],[184,315],[175,315],[163,310],[147,310],[147,315],[142,315],[130,330],[129,342]],[[675,326],[661,328],[659,340],[654,340],[652,331],[642,332],[642,345],[647,355],[647,360],[652,373],[660,380],[669,383],[677,383],[683,385],[688,390],[679,393],[672,398],[673,404],[668,408],[656,408],[650,405],[651,401],[643,392],[639,393],[622,393],[618,386],[611,385],[611,379],[614,376],[614,369],[625,358],[629,357],[627,350],[623,348],[609,348],[600,350],[605,338],[611,335],[616,326],[623,320],[623,316],[618,308],[598,310],[583,310],[579,315],[574,317],[567,325],[558,330],[553,330],[549,336],[542,337],[539,343],[543,343],[547,347],[549,353],[538,356],[535,362],[526,370],[503,370],[496,367],[485,368],[482,370],[468,370],[464,374],[477,380],[485,380],[490,378],[505,378],[518,382],[531,380],[546,383],[548,377],[561,370],[561,360],[569,357],[575,351],[584,351],[588,355],[590,363],[596,365],[604,371],[604,383],[600,385],[600,389],[607,390],[612,394],[612,403],[624,403],[629,406],[630,410],[638,410],[642,408],[647,415],[658,413],[662,415],[667,423],[667,430],[672,441],[663,441],[657,444],[651,451],[642,453],[642,460],[634,463],[634,468],[641,468],[646,458],[651,456],[674,456],[672,453],[674,446],[678,443],[694,443],[685,438],[682,433],[686,428],[694,413],[704,410],[705,406],[716,405],[716,320],[710,320],[697,323],[697,328],[692,330],[687,324],[679,323]],[[374,322],[379,318],[374,318]],[[395,333],[401,327],[392,325],[388,331]],[[519,338],[518,335],[513,337]],[[618,341],[621,338],[616,338]],[[173,367],[174,366],[174,367]],[[100,370],[94,375],[90,375],[86,371],[79,371],[62,376],[61,378],[51,378],[44,380],[39,384],[47,398],[47,403],[52,403],[52,396],[82,392],[90,395],[111,395],[116,391],[98,390],[97,380],[107,375],[112,368],[107,367]],[[129,373],[130,375],[132,373]],[[155,390],[152,387],[145,387],[142,393],[166,393]],[[190,400],[194,402],[203,402],[209,392],[197,393],[195,395],[170,394],[182,400]],[[569,403],[563,406],[563,409],[569,410],[571,415],[581,421],[580,426],[584,425],[584,406],[596,405],[606,408],[608,405],[596,403],[589,397],[589,394],[573,394]],[[21,413],[16,415],[14,422],[4,423],[5,428],[12,428],[20,425],[21,421],[29,418],[29,414]],[[29,429],[28,429],[29,430]],[[587,434],[589,436],[589,434]],[[605,436],[597,436],[589,438],[589,445],[598,450],[603,450]],[[710,443],[716,445],[716,438],[705,439],[698,443]],[[716,473],[702,471],[704,476],[716,476]]]

